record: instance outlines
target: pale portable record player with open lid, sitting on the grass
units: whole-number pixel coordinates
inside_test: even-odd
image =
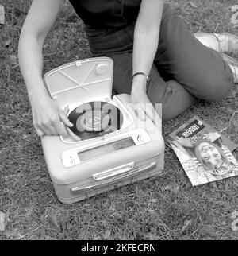
[[[159,126],[141,121],[130,96],[112,96],[113,60],[90,58],[48,72],[44,83],[74,126],[41,138],[48,172],[63,203],[73,203],[163,170]]]

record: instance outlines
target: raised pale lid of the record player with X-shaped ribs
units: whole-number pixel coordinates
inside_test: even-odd
[[[111,99],[113,60],[107,57],[78,60],[55,68],[44,83],[59,107]]]

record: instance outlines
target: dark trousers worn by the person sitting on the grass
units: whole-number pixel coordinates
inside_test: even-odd
[[[113,59],[113,89],[117,94],[130,94],[132,89],[134,25],[123,29],[86,28],[92,55]],[[232,70],[221,55],[202,45],[167,5],[150,75],[148,98],[153,104],[163,103],[163,120],[181,114],[196,99],[222,99],[233,84]]]

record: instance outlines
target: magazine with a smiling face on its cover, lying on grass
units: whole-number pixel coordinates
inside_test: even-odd
[[[198,117],[168,136],[193,186],[238,175],[238,162],[230,150],[236,145],[224,138]]]

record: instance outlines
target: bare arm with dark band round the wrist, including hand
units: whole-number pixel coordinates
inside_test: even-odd
[[[133,74],[144,72],[149,74],[155,58],[159,43],[159,29],[163,14],[164,0],[142,0],[140,13],[136,21],[133,46]],[[137,75],[132,82],[132,101],[140,103],[142,110],[152,118],[152,108],[148,111],[142,106],[150,103],[145,93],[146,80],[144,76]],[[143,115],[143,114],[142,114]],[[153,119],[153,118],[152,118]]]

